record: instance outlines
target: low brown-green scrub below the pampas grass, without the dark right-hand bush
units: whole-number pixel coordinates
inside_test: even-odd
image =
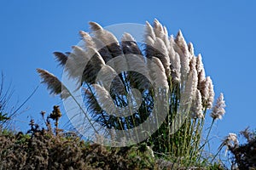
[[[0,131],[1,169],[223,169],[210,167],[182,167],[178,163],[152,154],[146,143],[113,148],[91,144],[78,136],[55,135],[49,129],[33,128],[31,133]]]

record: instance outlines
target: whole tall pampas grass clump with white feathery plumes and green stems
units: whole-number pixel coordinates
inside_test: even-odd
[[[118,42],[117,38],[102,26],[95,22],[89,24],[91,34],[79,32],[84,41],[83,47],[73,46],[73,51],[67,54],[55,52],[55,57],[60,65],[66,65],[68,76],[77,80],[78,89],[84,89],[84,104],[92,121],[108,129],[127,131],[140,126],[151,116],[159,125],[159,120],[152,116],[152,111],[155,101],[163,99],[167,101],[164,122],[143,142],[151,146],[157,156],[168,156],[173,162],[177,161],[185,167],[201,166],[202,162],[206,162],[202,153],[213,123],[224,115],[225,105],[223,94],[220,94],[212,108],[215,95],[212,79],[206,76],[201,54],[195,55],[193,44],[185,41],[181,31],[177,32],[176,37],[169,36],[166,27],[158,20],[154,20],[153,26],[146,22],[143,49],[128,33]],[[113,65],[108,65],[108,61],[119,55],[129,55],[127,65],[136,65],[141,72],[122,71],[115,77],[110,77],[114,69]],[[132,57],[141,62],[135,62]],[[158,67],[159,72],[156,72],[154,67]],[[107,75],[102,77],[104,80],[113,78],[109,92],[104,80],[96,79],[101,70]],[[73,94],[57,77],[42,69],[38,69],[38,73],[51,94],[60,94],[62,99],[72,98],[82,109]],[[157,83],[162,86],[155,88]],[[131,94],[134,88],[143,98],[139,109],[131,116],[118,117],[108,114],[106,108],[115,112],[117,110],[114,105],[125,107],[129,100],[128,94],[135,101],[137,96]],[[111,99],[111,102],[108,99]],[[131,107],[129,111],[133,111],[136,106]],[[210,110],[212,124],[208,128],[206,139],[203,140],[205,120]],[[91,122],[90,125],[89,128],[94,128]],[[97,129],[93,130],[97,134]],[[143,131],[147,133],[148,129]],[[137,132],[134,135],[136,136]],[[111,138],[120,139],[118,135],[111,135]]]

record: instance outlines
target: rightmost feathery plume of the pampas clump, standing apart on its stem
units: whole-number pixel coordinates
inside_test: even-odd
[[[224,116],[224,113],[225,113],[225,110],[224,110],[225,106],[226,105],[225,105],[225,101],[224,101],[224,95],[220,94],[216,101],[216,104],[212,108],[211,116],[214,120],[222,119],[222,117]]]

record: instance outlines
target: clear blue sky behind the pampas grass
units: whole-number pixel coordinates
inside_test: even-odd
[[[52,53],[70,51],[79,42],[79,31],[89,31],[89,21],[110,26],[156,18],[170,34],[181,29],[186,41],[194,43],[216,94],[224,93],[226,115],[213,127],[216,141],[247,126],[256,128],[256,1],[2,0],[0,8],[0,70],[15,89],[13,104],[38,86],[36,68],[61,77]],[[15,118],[15,128],[27,129],[30,117],[40,121],[39,112],[49,113],[53,105],[61,100],[40,85],[22,108],[27,110]]]

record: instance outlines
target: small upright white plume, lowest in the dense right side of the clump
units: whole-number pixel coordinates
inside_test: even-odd
[[[191,111],[193,114],[193,118],[204,118],[204,115],[202,113],[201,93],[198,89],[196,89],[195,92],[195,99],[193,99]]]

